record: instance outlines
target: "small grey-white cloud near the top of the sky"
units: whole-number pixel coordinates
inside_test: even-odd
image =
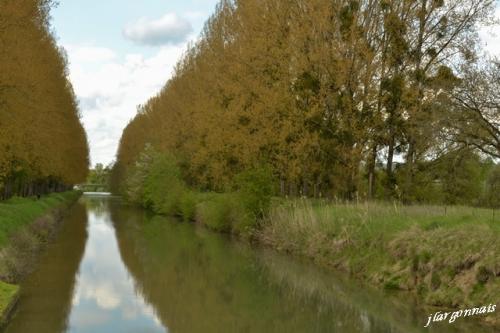
[[[174,13],[159,19],[141,18],[123,29],[123,35],[142,45],[179,44],[193,31],[191,23]]]

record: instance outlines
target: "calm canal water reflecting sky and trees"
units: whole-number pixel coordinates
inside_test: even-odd
[[[8,333],[488,332],[425,329],[409,297],[272,250],[85,195],[21,286]]]

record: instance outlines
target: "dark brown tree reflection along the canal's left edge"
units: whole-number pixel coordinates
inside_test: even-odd
[[[87,240],[87,211],[75,204],[39,268],[21,285],[16,314],[8,333],[54,333],[67,329],[72,296]]]

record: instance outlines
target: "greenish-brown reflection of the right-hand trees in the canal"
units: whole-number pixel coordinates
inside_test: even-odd
[[[136,288],[174,332],[314,332],[334,325],[270,290],[252,253],[192,226],[142,214],[113,216]]]

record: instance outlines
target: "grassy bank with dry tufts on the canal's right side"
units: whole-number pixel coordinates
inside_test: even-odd
[[[385,288],[415,291],[430,305],[474,307],[500,295],[500,216],[492,210],[285,201],[259,238]]]

